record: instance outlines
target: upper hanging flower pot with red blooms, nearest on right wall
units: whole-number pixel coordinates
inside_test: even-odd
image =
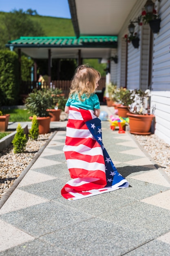
[[[160,30],[161,19],[157,15],[157,11],[153,9],[152,12],[142,11],[141,20],[144,24],[149,24],[153,33],[158,33]]]

